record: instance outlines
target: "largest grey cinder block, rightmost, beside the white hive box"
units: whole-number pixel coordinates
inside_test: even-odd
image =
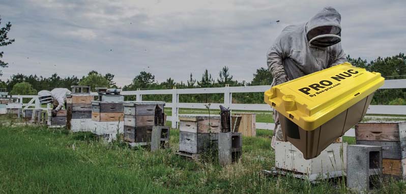
[[[347,186],[358,191],[369,191],[382,176],[382,147],[368,145],[347,146]]]

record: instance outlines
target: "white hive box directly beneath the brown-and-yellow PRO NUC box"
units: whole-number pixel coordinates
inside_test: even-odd
[[[308,176],[309,180],[339,177],[346,172],[347,143],[333,143],[315,158],[304,159],[303,153],[289,142],[275,143],[275,167]],[[340,151],[342,150],[342,154]]]

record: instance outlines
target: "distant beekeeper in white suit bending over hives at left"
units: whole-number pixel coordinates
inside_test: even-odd
[[[38,98],[41,104],[52,103],[52,117],[62,109],[66,103],[66,95],[71,94],[71,91],[66,88],[55,88],[51,91],[41,90],[38,92]]]

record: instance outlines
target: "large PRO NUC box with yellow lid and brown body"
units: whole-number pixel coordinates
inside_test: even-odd
[[[273,86],[264,96],[279,113],[284,141],[311,159],[362,120],[384,80],[345,62]]]

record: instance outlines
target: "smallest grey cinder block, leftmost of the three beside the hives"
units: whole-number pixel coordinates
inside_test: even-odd
[[[151,151],[169,147],[169,127],[153,126],[151,136]]]

